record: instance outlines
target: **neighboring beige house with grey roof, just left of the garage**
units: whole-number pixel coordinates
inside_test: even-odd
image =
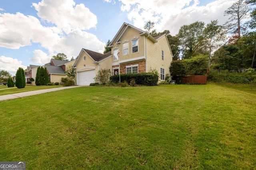
[[[66,68],[68,68],[69,65],[72,66],[75,63],[75,61],[76,60],[62,61],[62,60],[51,59],[50,63],[45,64],[44,67],[46,67],[47,69],[50,82],[61,83],[61,78],[67,77],[64,71],[66,71]]]

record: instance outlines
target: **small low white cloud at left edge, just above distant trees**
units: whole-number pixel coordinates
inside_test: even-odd
[[[27,68],[22,65],[22,61],[18,61],[11,57],[0,56],[0,70],[6,70],[12,74],[12,76],[15,76],[19,67],[22,67],[23,69]]]

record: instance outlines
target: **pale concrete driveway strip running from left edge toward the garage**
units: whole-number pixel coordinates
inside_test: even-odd
[[[82,86],[67,86],[67,87],[49,88],[49,89],[34,90],[34,91],[29,91],[29,92],[7,94],[7,95],[0,96],[0,101],[11,100],[11,99],[16,99],[16,98],[23,98],[26,96],[32,96],[32,95],[36,95],[36,94],[48,93],[48,92],[53,92],[53,91],[57,91],[57,90],[63,90],[63,89],[67,89],[67,88],[76,88],[76,87],[82,87]]]

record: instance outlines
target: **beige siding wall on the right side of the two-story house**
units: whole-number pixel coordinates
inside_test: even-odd
[[[170,63],[172,62],[172,52],[166,36],[158,39],[157,43],[153,43],[149,39],[147,41],[147,72],[156,69],[160,74],[160,68],[164,68],[164,74],[169,74]],[[162,60],[162,51],[164,51],[164,60]]]

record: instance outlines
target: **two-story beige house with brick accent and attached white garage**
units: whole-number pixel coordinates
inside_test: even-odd
[[[148,32],[124,23],[109,47],[111,52],[104,55],[82,49],[74,63],[77,85],[94,82],[98,70],[104,68],[110,69],[113,75],[156,69],[160,80],[164,80],[166,74],[170,75],[173,55],[166,34],[152,37]]]

